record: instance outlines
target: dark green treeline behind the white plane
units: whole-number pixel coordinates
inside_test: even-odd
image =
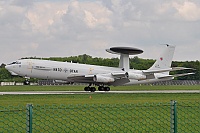
[[[41,59],[36,57],[30,57],[31,59]],[[29,59],[30,59],[29,58]],[[27,59],[27,58],[22,58]],[[73,63],[83,63],[83,64],[92,64],[92,65],[100,65],[100,66],[109,66],[109,67],[118,67],[119,65],[119,58],[97,58],[92,57],[89,55],[79,55],[79,56],[71,56],[71,57],[50,57],[50,58],[42,58],[44,60],[54,60],[54,61],[61,61],[61,62],[73,62]],[[153,65],[155,60],[152,59],[141,59],[137,56],[130,58],[130,68],[131,69],[138,69],[138,70],[145,70],[148,69]],[[195,72],[194,75],[188,75],[183,77],[178,77],[178,80],[200,80],[200,62],[197,61],[173,61],[172,67],[188,67],[193,68],[195,70],[184,70],[184,71],[174,71],[171,74],[178,74],[178,73],[188,73],[188,72]],[[5,64],[0,66],[0,81],[21,81],[22,78],[18,76],[11,76],[10,73],[5,69]]]

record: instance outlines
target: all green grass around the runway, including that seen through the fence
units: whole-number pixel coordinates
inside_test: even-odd
[[[0,87],[0,91],[82,89],[83,86]],[[200,90],[200,86],[123,86],[111,90]],[[31,103],[33,132],[170,132],[170,100],[178,102],[178,131],[198,132],[199,93],[0,95],[0,130],[26,132],[25,106]]]

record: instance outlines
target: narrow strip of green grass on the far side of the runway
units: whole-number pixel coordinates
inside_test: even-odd
[[[83,91],[84,86],[0,86],[0,91]],[[96,87],[97,88],[97,87]],[[113,91],[133,90],[200,90],[200,85],[151,86],[133,85],[111,87]]]

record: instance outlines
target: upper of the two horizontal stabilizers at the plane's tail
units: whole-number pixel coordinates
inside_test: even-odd
[[[167,69],[143,70],[142,72],[148,75],[152,73],[162,73],[162,72],[177,71],[177,70],[194,70],[194,69],[186,68],[186,67],[172,67],[172,68],[167,68]]]

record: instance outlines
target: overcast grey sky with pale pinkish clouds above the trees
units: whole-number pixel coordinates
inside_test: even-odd
[[[200,60],[200,0],[0,0],[0,63],[21,57],[118,57],[112,46],[155,59]]]

